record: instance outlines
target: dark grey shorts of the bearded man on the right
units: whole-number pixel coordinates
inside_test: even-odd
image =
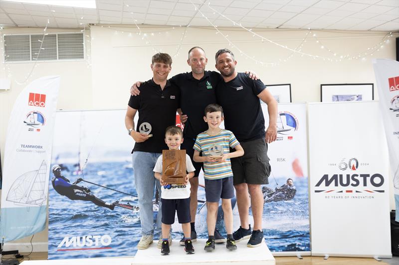
[[[265,139],[241,142],[240,145],[245,154],[242,157],[230,159],[234,185],[241,183],[269,184],[268,177],[271,167]]]

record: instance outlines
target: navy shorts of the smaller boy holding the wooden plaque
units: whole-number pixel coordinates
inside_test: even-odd
[[[162,202],[162,223],[171,225],[175,223],[175,212],[178,211],[180,224],[191,222],[190,198],[187,199],[163,199]]]

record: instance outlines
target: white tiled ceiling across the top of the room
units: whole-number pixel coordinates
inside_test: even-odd
[[[135,22],[211,26],[209,21],[230,27],[234,21],[249,28],[399,30],[399,0],[96,0],[96,6],[0,0],[0,25],[44,27],[48,19],[53,28]]]

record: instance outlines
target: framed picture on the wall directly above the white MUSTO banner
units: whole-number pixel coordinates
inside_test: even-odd
[[[321,84],[321,102],[374,100],[374,84]]]

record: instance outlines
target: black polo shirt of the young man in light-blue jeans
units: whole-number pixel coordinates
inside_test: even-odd
[[[139,111],[139,120],[136,131],[143,122],[152,126],[148,140],[142,143],[135,143],[133,151],[162,153],[168,150],[165,143],[165,130],[168,126],[176,125],[176,110],[180,107],[180,90],[170,81],[167,81],[164,90],[160,85],[149,80],[141,84],[140,94],[130,96],[128,105]],[[132,153],[133,153],[132,151]]]

